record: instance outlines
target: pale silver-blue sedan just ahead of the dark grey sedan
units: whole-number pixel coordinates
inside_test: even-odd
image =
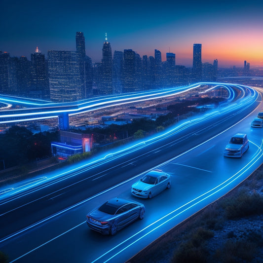
[[[131,193],[141,198],[151,198],[171,187],[171,176],[162,170],[152,170],[132,185]]]

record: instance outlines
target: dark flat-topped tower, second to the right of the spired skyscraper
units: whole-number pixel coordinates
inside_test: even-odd
[[[132,49],[124,49],[123,54],[123,93],[133,92],[136,90],[135,77],[135,51]]]

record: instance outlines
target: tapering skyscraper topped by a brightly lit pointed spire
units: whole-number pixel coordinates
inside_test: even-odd
[[[108,42],[107,33],[102,48],[102,81],[101,94],[113,93],[113,56],[111,43]]]

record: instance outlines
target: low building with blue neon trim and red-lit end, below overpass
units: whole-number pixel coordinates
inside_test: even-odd
[[[60,142],[52,142],[52,155],[60,161],[68,157],[90,151],[92,148],[92,136],[89,134],[78,134],[67,131],[60,131]]]

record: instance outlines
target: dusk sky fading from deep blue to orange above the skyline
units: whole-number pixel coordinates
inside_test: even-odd
[[[36,46],[75,50],[84,33],[86,54],[102,59],[107,32],[112,50],[131,48],[154,56],[176,53],[176,64],[192,66],[192,47],[202,44],[202,62],[219,67],[263,67],[262,0],[0,0],[0,50],[27,56]]]

